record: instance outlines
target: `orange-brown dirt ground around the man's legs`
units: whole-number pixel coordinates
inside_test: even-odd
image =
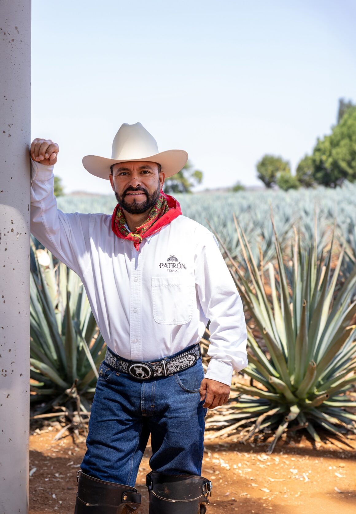
[[[30,436],[30,514],[72,514],[76,473],[85,443],[64,434],[53,441],[53,427]],[[272,455],[268,443],[241,445],[237,440],[207,441],[202,475],[213,484],[211,514],[328,514],[356,512],[356,450],[326,439],[318,449],[305,436],[281,440]],[[353,442],[354,445],[354,442]],[[136,487],[142,494],[138,514],[148,512],[148,447]]]

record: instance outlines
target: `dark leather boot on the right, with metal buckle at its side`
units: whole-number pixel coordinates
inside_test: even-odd
[[[203,476],[164,475],[151,471],[146,476],[149,514],[204,514],[212,485]]]

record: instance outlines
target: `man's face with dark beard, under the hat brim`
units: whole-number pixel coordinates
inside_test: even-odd
[[[111,169],[111,187],[123,210],[130,214],[151,210],[164,183],[164,173],[159,173],[158,164],[149,161],[118,162]]]

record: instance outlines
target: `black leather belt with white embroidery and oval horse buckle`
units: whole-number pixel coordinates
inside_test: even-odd
[[[169,377],[175,373],[186,370],[194,366],[197,360],[201,358],[199,344],[196,344],[190,350],[183,352],[175,357],[165,357],[156,362],[139,362],[125,360],[115,355],[106,348],[105,362],[111,368],[128,373],[132,377],[139,380],[147,380],[151,377]]]

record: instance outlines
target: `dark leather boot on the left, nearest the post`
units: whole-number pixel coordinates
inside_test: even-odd
[[[74,514],[130,514],[141,504],[141,494],[135,487],[105,482],[83,471],[78,471],[77,481]]]

